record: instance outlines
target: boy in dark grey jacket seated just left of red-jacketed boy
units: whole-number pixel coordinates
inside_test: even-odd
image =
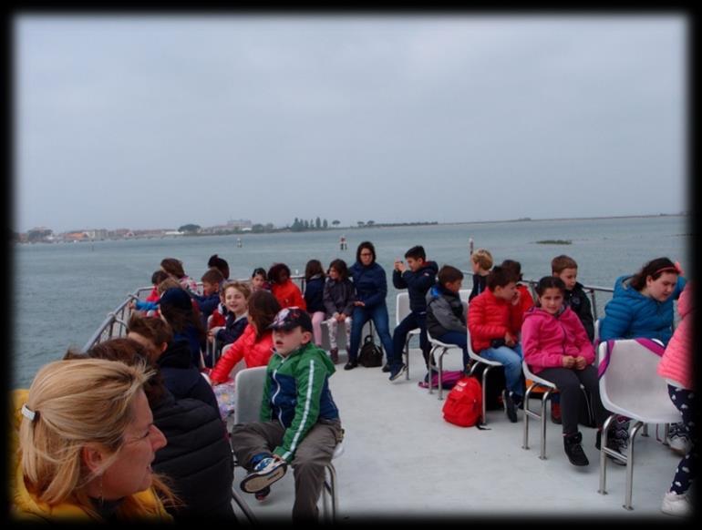
[[[439,270],[439,281],[427,293],[427,331],[432,337],[463,349],[463,371],[467,371],[468,330],[459,290],[463,273],[444,265]]]

